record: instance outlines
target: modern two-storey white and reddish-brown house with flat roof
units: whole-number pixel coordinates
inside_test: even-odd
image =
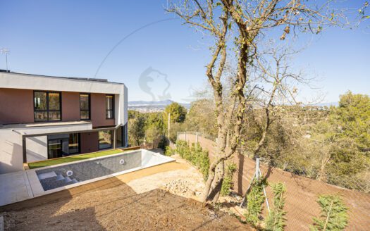
[[[0,70],[0,174],[127,146],[127,99],[122,83]]]

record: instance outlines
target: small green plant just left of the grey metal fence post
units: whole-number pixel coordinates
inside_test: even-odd
[[[254,179],[251,185],[249,194],[247,194],[247,213],[245,217],[247,223],[254,226],[259,226],[260,219],[259,216],[262,211],[262,204],[264,203],[264,186],[266,186],[266,180],[264,179]]]

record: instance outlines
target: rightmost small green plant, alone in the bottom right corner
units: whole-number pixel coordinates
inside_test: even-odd
[[[348,208],[340,196],[321,195],[317,200],[321,207],[321,215],[314,218],[314,225],[309,227],[312,231],[339,231],[344,230],[348,223]]]

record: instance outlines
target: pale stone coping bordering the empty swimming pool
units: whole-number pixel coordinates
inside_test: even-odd
[[[137,168],[131,168],[131,169],[124,170],[124,171],[121,171],[121,172],[118,172],[118,173],[112,173],[112,174],[109,174],[109,175],[96,177],[96,178],[93,178],[93,179],[90,179],[90,180],[85,180],[85,181],[82,181],[82,182],[74,183],[74,184],[71,184],[71,185],[66,185],[66,186],[63,186],[63,187],[58,187],[56,189],[50,189],[50,190],[47,190],[47,191],[44,191],[44,189],[42,188],[41,182],[39,182],[39,178],[37,177],[37,174],[36,174],[37,170],[42,170],[42,169],[47,169],[47,168],[55,168],[55,167],[59,167],[59,166],[67,166],[67,165],[74,164],[74,163],[81,163],[81,162],[85,162],[85,161],[93,161],[93,160],[98,160],[98,159],[101,159],[101,158],[109,158],[111,156],[120,156],[122,154],[124,154],[124,155],[125,154],[130,154],[132,152],[140,152],[140,154],[141,154],[142,151],[149,152],[150,154],[152,154],[154,156],[157,156],[157,157],[160,157],[160,158],[164,158],[164,161],[161,161],[159,163],[147,164],[146,166],[140,166],[140,167],[137,167]],[[46,167],[42,167],[42,168],[33,168],[33,169],[27,170],[25,172],[27,174],[27,178],[28,178],[28,182],[29,182],[28,185],[30,185],[30,191],[32,192],[32,195],[33,195],[31,198],[35,198],[35,197],[38,197],[38,196],[44,196],[46,194],[51,194],[51,193],[54,193],[54,192],[63,191],[65,189],[78,187],[80,185],[86,185],[86,184],[96,182],[96,181],[99,181],[99,180],[105,180],[105,179],[108,179],[108,178],[111,178],[111,177],[115,177],[117,175],[123,175],[125,173],[135,172],[137,170],[141,170],[141,169],[144,169],[144,168],[159,166],[161,164],[170,163],[170,162],[173,162],[173,161],[175,161],[175,159],[171,158],[169,156],[164,156],[162,154],[156,153],[154,151],[148,151],[146,149],[137,149],[137,150],[132,150],[132,151],[123,151],[119,154],[112,154],[112,155],[109,155],[109,156],[99,156],[99,157],[88,158],[88,159],[81,160],[81,161],[73,161],[73,162],[69,162],[69,163],[60,163],[60,164],[57,164],[57,165],[54,165],[54,166],[46,166]]]

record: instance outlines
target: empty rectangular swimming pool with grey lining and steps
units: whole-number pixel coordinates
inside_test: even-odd
[[[77,186],[87,182],[103,180],[107,177],[130,173],[171,161],[175,160],[153,151],[140,149],[38,168],[35,169],[35,174],[44,192],[59,191],[59,189],[66,189],[73,187],[73,185]]]

